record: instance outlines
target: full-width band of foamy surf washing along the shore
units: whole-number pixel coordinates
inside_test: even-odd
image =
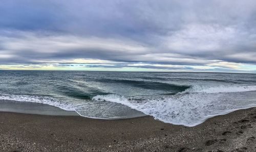
[[[130,107],[137,112],[151,115],[160,121],[185,126],[195,126],[216,115],[256,106],[254,92],[229,93],[228,96],[225,93],[196,93],[172,96],[159,95],[145,98],[108,94],[94,96],[91,100],[86,100],[86,102],[63,101],[40,95],[0,94],[0,100],[48,104],[66,111],[75,111],[83,117],[99,119],[114,119],[120,118],[120,116],[125,118],[127,117],[127,108]],[[130,115],[132,116],[134,113],[131,112]],[[132,117],[134,116],[138,117],[141,114],[136,114]]]

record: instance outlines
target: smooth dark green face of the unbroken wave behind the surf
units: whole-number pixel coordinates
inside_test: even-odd
[[[101,79],[99,81],[108,82],[108,83],[122,83],[126,85],[132,85],[138,88],[151,89],[151,90],[164,90],[172,93],[178,93],[185,91],[190,88],[189,85],[177,85],[163,82],[155,81],[139,81],[139,80],[127,80],[127,79]]]

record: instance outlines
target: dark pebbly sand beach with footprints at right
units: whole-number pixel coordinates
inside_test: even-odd
[[[0,151],[256,151],[256,108],[195,127],[0,112]]]

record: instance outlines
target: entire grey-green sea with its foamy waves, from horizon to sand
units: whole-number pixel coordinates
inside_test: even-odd
[[[89,118],[151,115],[195,126],[256,106],[256,75],[230,73],[0,71],[0,100],[36,102]]]

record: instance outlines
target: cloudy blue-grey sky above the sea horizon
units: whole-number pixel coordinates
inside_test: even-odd
[[[2,0],[0,70],[256,73],[256,1]]]

